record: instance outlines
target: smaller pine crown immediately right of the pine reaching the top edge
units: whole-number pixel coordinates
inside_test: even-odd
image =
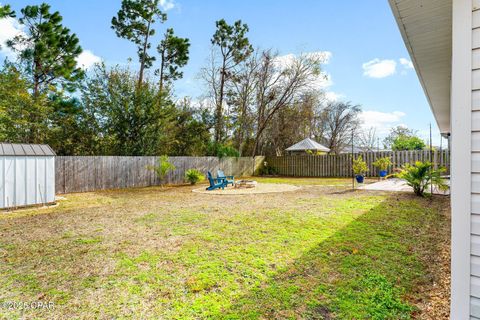
[[[185,66],[189,59],[190,42],[188,38],[175,36],[173,29],[169,28],[157,47],[160,54],[160,68],[157,70],[160,93],[164,85],[183,77],[180,68]]]

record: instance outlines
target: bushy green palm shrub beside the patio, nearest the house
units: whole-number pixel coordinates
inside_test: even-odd
[[[397,177],[404,179],[417,196],[425,196],[425,189],[432,184],[440,190],[447,190],[448,185],[442,178],[445,168],[433,169],[428,161],[417,161],[414,165],[407,163],[403,166]]]

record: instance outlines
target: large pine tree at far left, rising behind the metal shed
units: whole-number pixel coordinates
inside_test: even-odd
[[[77,67],[76,58],[82,52],[77,36],[62,25],[59,12],[50,12],[48,4],[26,6],[21,9],[19,22],[25,32],[7,41],[7,45],[18,54],[19,68],[29,82],[33,103],[28,112],[31,124],[26,142],[42,142],[51,113],[45,96],[56,92],[61,86],[74,90],[83,77]]]

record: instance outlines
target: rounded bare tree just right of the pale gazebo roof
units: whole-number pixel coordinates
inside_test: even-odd
[[[319,123],[323,138],[332,153],[340,153],[349,144],[352,130],[359,126],[359,105],[350,102],[328,102],[322,110]]]

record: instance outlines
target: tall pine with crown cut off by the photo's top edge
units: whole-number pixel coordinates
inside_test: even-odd
[[[137,45],[140,62],[138,86],[143,83],[145,69],[150,68],[155,61],[155,57],[148,53],[150,39],[155,34],[155,19],[158,18],[161,23],[167,20],[167,15],[160,10],[159,5],[160,0],[122,0],[117,16],[112,18],[112,29],[117,36]]]

